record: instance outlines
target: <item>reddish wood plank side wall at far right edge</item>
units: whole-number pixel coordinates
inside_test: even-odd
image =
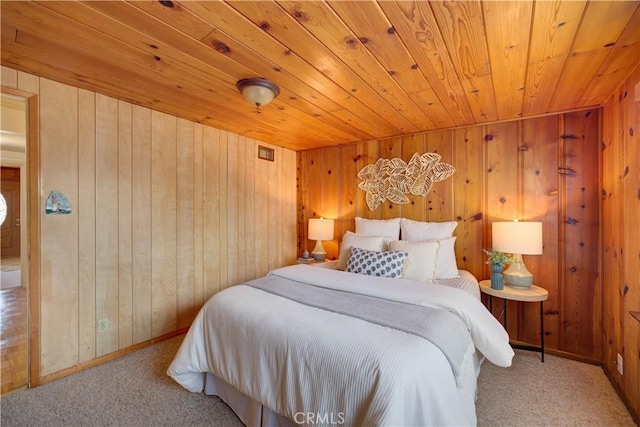
[[[604,106],[605,372],[640,420],[640,67]],[[618,372],[617,355],[623,358]]]

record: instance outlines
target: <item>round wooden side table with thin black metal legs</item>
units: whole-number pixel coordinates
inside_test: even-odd
[[[525,350],[534,350],[540,352],[542,361],[544,362],[544,315],[543,304],[549,298],[549,292],[539,286],[531,286],[528,289],[514,288],[505,285],[503,289],[493,289],[491,280],[480,281],[480,291],[489,295],[489,310],[493,312],[493,297],[502,298],[503,300],[503,321],[504,328],[507,329],[507,300],[522,302],[540,302],[540,347],[532,345],[512,344],[514,348]]]

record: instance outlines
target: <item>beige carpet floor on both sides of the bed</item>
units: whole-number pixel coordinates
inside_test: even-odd
[[[241,426],[218,398],[166,375],[183,336],[0,399],[0,425]],[[518,350],[511,368],[485,363],[480,426],[635,426],[602,369]]]

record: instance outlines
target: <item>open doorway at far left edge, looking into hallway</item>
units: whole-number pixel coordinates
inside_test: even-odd
[[[0,126],[0,353],[2,394],[29,382],[27,100],[2,93]]]

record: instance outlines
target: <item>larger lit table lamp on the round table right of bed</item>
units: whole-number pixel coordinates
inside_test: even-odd
[[[542,223],[494,222],[491,228],[493,250],[513,255],[509,268],[502,273],[505,283],[514,288],[529,288],[533,274],[524,265],[522,255],[542,255]]]

